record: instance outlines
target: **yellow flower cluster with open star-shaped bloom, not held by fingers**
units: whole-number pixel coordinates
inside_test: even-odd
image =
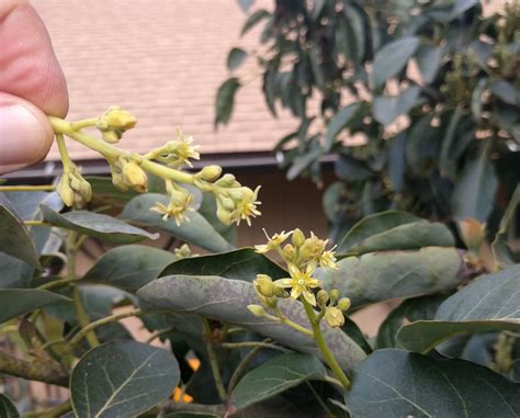
[[[292,297],[318,307],[318,318],[325,318],[331,327],[342,326],[343,312],[350,307],[350,300],[339,298],[337,290],[332,290],[330,295],[323,289],[315,294],[315,290],[321,286],[319,280],[313,276],[318,264],[324,269],[338,269],[334,249],[326,250],[328,240],[319,239],[314,233],[306,238],[301,229],[282,231],[272,237],[265,233],[265,236],[268,242],[256,246],[256,251],[275,251],[286,263],[290,276],[273,281],[269,275],[258,274],[253,285],[262,306],[249,305],[249,310],[256,316],[282,319],[278,300]],[[290,237],[291,242],[285,244]],[[268,314],[265,309],[273,310],[275,316]]]

